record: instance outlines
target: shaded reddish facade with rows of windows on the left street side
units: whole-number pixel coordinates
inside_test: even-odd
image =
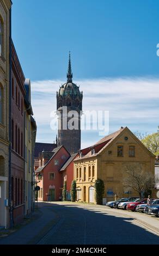
[[[11,45],[11,75],[11,202],[13,224],[16,224],[21,222],[25,207],[24,99],[26,90],[25,76],[13,42]]]

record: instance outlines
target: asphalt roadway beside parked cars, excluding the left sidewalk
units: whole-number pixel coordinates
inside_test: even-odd
[[[57,223],[39,240],[47,245],[159,244],[159,236],[136,223],[138,213],[107,209],[106,206],[71,203],[50,204],[59,216]],[[130,213],[131,214],[131,213]],[[126,216],[124,216],[126,215]],[[138,216],[141,216],[140,214]],[[142,215],[143,219],[144,214]],[[151,216],[146,217],[151,220]],[[156,226],[158,218],[154,218]],[[159,225],[158,225],[159,228]]]

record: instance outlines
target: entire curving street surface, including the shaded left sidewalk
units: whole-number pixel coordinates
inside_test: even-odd
[[[159,218],[100,205],[40,202],[32,220],[0,244],[159,244]]]

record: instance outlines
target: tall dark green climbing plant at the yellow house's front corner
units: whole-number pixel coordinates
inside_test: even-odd
[[[97,204],[102,204],[104,193],[105,193],[104,182],[101,179],[97,179],[95,181],[95,199]]]

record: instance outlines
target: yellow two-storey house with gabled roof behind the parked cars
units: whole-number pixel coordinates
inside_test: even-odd
[[[102,138],[90,150],[81,150],[80,157],[74,160],[77,201],[96,203],[94,185],[97,178],[105,184],[103,198],[107,202],[115,197],[127,197],[123,180],[125,168],[132,164],[155,173],[155,156],[127,127]],[[130,196],[138,194],[131,191]]]

